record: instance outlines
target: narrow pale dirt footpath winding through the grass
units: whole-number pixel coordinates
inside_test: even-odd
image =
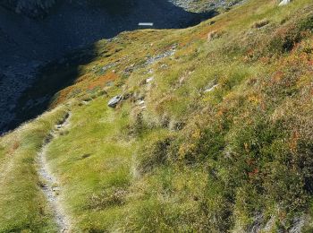
[[[51,173],[47,165],[47,147],[70,124],[70,117],[71,114],[68,113],[59,125],[55,125],[55,130],[47,136],[41,151],[38,153],[38,175],[43,181],[41,189],[46,195],[47,202],[55,215],[55,222],[59,232],[70,231],[70,220],[64,213],[60,197],[58,196],[62,192],[62,188],[58,186],[56,177]]]

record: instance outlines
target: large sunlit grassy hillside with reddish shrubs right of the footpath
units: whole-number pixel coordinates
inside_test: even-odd
[[[74,229],[242,232],[309,222],[312,11],[308,0],[285,7],[251,0],[194,28],[98,42],[94,61],[78,67],[76,82],[52,104],[90,100],[71,106],[68,134],[48,150]],[[173,56],[146,64],[172,47]],[[122,90],[130,98],[107,108]],[[141,98],[146,110],[136,104]],[[51,127],[35,134],[35,148]],[[1,139],[1,168],[15,134]],[[22,184],[36,184],[35,174],[29,178]],[[1,227],[14,229],[8,224],[18,220]],[[24,221],[19,229],[34,226]]]

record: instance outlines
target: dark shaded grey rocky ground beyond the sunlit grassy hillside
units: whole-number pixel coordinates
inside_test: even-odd
[[[16,111],[24,110],[17,103],[38,69],[50,61],[98,39],[137,30],[139,22],[154,22],[157,29],[183,28],[212,15],[187,12],[169,0],[131,0],[121,5],[125,9],[118,2],[106,9],[90,4],[97,1],[46,1],[0,0],[0,134],[25,120],[16,118]],[[30,100],[40,104],[45,99]]]

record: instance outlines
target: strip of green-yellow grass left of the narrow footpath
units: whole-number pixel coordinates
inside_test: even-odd
[[[36,157],[64,111],[56,108],[1,138],[0,232],[56,231],[38,186]]]

